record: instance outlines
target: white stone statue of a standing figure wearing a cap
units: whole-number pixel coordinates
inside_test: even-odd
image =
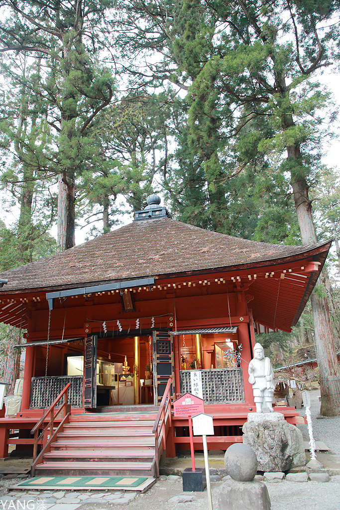
[[[270,359],[265,358],[263,347],[259,343],[254,346],[254,358],[249,363],[248,373],[249,382],[253,385],[256,413],[262,413],[263,407],[269,407],[269,411],[273,413],[274,372]]]

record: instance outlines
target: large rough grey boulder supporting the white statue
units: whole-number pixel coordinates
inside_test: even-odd
[[[306,464],[302,433],[282,413],[249,413],[243,443],[256,453],[258,471],[288,471]]]

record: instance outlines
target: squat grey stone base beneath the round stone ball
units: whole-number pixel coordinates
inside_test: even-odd
[[[268,489],[261,481],[227,480],[217,494],[220,510],[270,510]]]

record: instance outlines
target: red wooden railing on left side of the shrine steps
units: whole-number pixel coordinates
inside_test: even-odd
[[[65,388],[59,393],[59,395],[56,398],[56,400],[48,407],[48,410],[47,410],[46,414],[44,414],[40,418],[38,423],[31,430],[31,434],[34,434],[33,463],[32,463],[32,466],[31,466],[31,476],[34,476],[34,474],[35,474],[35,467],[36,467],[36,465],[40,464],[42,462],[43,454],[50,450],[50,444],[55,439],[55,437],[56,437],[57,433],[59,432],[59,430],[63,427],[63,425],[65,423],[68,423],[68,421],[69,421],[69,417],[70,417],[70,414],[71,414],[71,404],[67,403],[67,392],[68,392],[70,386],[71,386],[71,383],[69,382],[65,386]],[[63,397],[65,397],[64,398],[64,402],[62,403],[62,405],[59,407],[57,413],[55,414],[55,407],[56,407],[57,403]],[[54,430],[54,421],[57,418],[57,416],[64,409],[65,409],[65,416],[62,419],[62,421],[59,423],[59,425],[56,428],[56,430]],[[50,414],[50,419],[49,419],[49,422],[47,423],[47,425],[45,426],[44,425],[44,421],[46,420],[48,414]],[[39,434],[39,429],[40,428],[42,428],[42,430],[41,430],[41,432]],[[41,441],[41,444],[43,445],[44,433],[46,432],[46,430],[48,428],[49,428],[49,438],[48,438],[46,444],[42,447],[39,455],[37,455],[39,441]]]

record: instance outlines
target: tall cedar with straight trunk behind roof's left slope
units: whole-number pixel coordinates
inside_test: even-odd
[[[24,52],[45,67],[43,96],[48,122],[56,132],[59,173],[58,243],[74,245],[75,179],[96,149],[88,134],[95,116],[110,104],[113,79],[96,54],[107,45],[104,15],[110,2],[5,0],[0,19],[0,52]],[[37,105],[39,113],[41,103]]]

